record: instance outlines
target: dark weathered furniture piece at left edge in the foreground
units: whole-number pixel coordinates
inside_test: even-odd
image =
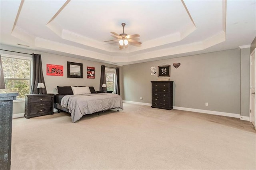
[[[0,170],[11,169],[12,104],[17,92],[0,89]]]

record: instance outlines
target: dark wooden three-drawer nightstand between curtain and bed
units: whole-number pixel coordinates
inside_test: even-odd
[[[38,117],[53,114],[54,94],[26,95],[24,117]]]

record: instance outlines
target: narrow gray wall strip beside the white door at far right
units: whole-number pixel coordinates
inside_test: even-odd
[[[250,48],[241,49],[241,116],[249,116]]]

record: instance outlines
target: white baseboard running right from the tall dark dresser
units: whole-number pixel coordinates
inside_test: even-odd
[[[198,113],[206,113],[206,114],[211,114],[211,115],[220,115],[220,116],[240,118],[239,114],[234,114],[234,113],[208,111],[208,110],[202,110],[202,109],[192,109],[192,108],[176,107],[176,106],[174,106],[173,109],[182,110],[182,111],[198,112]]]

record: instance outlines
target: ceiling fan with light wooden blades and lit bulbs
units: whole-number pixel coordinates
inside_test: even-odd
[[[109,40],[109,41],[105,41],[105,42],[108,42],[108,43],[119,43],[119,49],[123,49],[124,47],[127,48],[128,47],[128,44],[130,45],[135,45],[135,46],[140,46],[142,43],[141,42],[138,42],[136,40],[133,40],[134,38],[138,38],[140,37],[139,34],[134,34],[134,35],[127,35],[124,33],[124,26],[126,24],[125,23],[122,23],[122,26],[123,26],[123,33],[122,34],[117,34],[115,32],[110,32],[114,35],[111,35],[112,37],[116,38],[117,40]]]

